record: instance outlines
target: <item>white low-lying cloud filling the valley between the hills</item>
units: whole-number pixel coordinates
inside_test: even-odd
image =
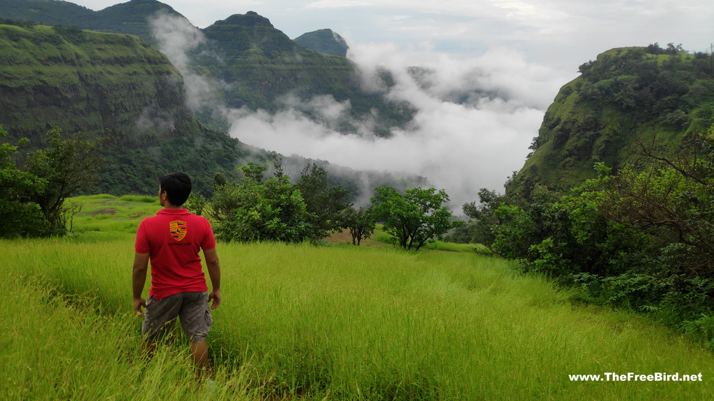
[[[181,49],[166,53],[172,62],[181,61],[181,52],[200,43],[195,33],[201,32],[185,20],[166,24],[166,18],[171,17],[154,24],[156,37],[170,39],[171,49]],[[178,24],[183,29],[177,29]],[[161,34],[162,26],[171,26],[171,34]],[[388,43],[348,44],[348,59],[358,66],[365,90],[408,101],[417,109],[408,128],[395,128],[390,138],[381,138],[373,135],[373,119],[366,118],[351,121],[358,129],[345,135],[336,127],[341,118],[349,118],[349,102],[318,96],[301,103],[286,96],[277,113],[226,110],[231,136],[286,156],[297,154],[356,170],[416,173],[443,188],[453,210],[460,213],[463,203],[478,200],[479,188],[503,192],[507,177],[523,166],[545,109],[565,83],[563,71],[529,64],[523,54],[506,48],[463,57],[439,54],[428,46],[401,51]],[[205,77],[188,71],[185,62],[174,64],[187,88],[203,87]],[[384,70],[391,72],[393,86],[384,86],[378,78]],[[187,91],[189,103],[200,102],[205,94]]]

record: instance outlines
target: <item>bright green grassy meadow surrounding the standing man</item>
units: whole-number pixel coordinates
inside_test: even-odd
[[[714,354],[623,311],[443,244],[218,244],[208,380],[181,333],[151,360],[131,312],[150,197],[90,196],[67,238],[0,240],[4,400],[713,399]],[[148,291],[149,285],[146,286]],[[618,375],[702,381],[614,381]],[[600,382],[570,375],[601,375]],[[666,376],[665,376],[666,377]]]

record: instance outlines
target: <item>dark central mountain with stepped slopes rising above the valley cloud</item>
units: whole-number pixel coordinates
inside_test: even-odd
[[[308,103],[327,96],[349,105],[348,117],[335,127],[338,131],[356,133],[356,122],[368,118],[374,121],[377,136],[390,136],[391,128],[405,127],[416,113],[406,102],[364,91],[356,66],[346,57],[300,46],[253,11],[216,21],[201,31],[207,40],[189,52],[190,68],[221,82],[216,90],[229,108],[273,113],[286,107],[286,97]],[[383,78],[386,87],[390,79]],[[309,108],[298,110],[316,117]],[[215,123],[208,118],[202,121]]]

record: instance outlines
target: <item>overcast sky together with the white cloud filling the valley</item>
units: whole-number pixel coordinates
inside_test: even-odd
[[[101,10],[121,1],[73,2]],[[344,116],[349,105],[318,98],[296,108],[316,108],[324,117],[322,124],[306,121],[292,110],[276,116],[229,111],[234,119],[231,135],[287,155],[419,173],[445,188],[456,208],[478,200],[478,188],[503,192],[506,177],[523,166],[545,110],[560,86],[577,76],[580,64],[614,47],[655,42],[664,47],[672,42],[688,51],[707,51],[714,43],[711,0],[164,3],[198,28],[255,11],[291,39],[325,28],[341,34],[351,47],[348,57],[361,68],[365,88],[417,106],[413,128],[395,131],[385,141],[369,137],[370,122],[362,121],[362,136],[338,136],[329,121]],[[169,58],[180,64],[185,60],[180,51],[196,43],[196,34],[183,30],[181,36],[174,31],[176,26],[163,26],[161,35],[172,38],[165,53],[173,49]],[[186,41],[178,45],[184,36]],[[378,66],[396,76],[397,85],[389,91],[371,87]],[[406,73],[409,66],[429,68],[431,74],[426,81],[415,82]],[[191,81],[187,74],[184,78]]]

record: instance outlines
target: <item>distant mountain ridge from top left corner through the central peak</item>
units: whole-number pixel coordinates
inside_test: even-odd
[[[131,0],[101,11],[62,4],[41,0],[0,0],[0,13],[8,18],[42,24],[76,25],[81,29],[135,34],[154,46],[159,43],[154,38],[149,19],[154,19],[157,11],[175,16],[179,19],[177,24],[197,29],[185,16],[156,0]],[[34,19],[30,6],[47,10],[42,14],[45,17]],[[55,12],[50,12],[52,7]],[[81,12],[78,11],[78,18],[72,20],[72,14],[64,9]],[[52,16],[59,19],[53,20]],[[374,133],[382,137],[391,136],[393,128],[405,128],[416,113],[415,108],[406,102],[389,101],[379,93],[363,90],[356,66],[344,56],[303,47],[254,11],[233,14],[199,31],[208,41],[198,49],[188,51],[188,68],[192,74],[212,81],[213,97],[224,101],[229,108],[246,107],[275,113],[285,107],[280,99],[286,96],[299,101],[332,96],[337,102],[348,101],[348,115],[334,129],[353,134],[358,132],[359,121],[374,120]],[[194,111],[204,125],[221,131],[228,128],[225,118],[216,113],[215,105],[208,104]],[[309,112],[301,113],[314,118]]]

